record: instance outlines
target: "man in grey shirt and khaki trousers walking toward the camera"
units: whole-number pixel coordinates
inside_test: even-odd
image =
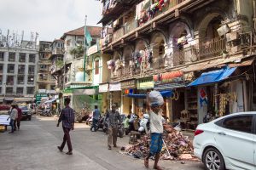
[[[118,127],[122,123],[119,111],[116,111],[116,105],[112,105],[112,110],[108,111],[106,115],[106,121],[108,122],[108,150],[111,150],[111,145],[117,147],[117,133]]]

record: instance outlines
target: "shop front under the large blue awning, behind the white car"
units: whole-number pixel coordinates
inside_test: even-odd
[[[245,111],[243,81],[239,77],[233,78],[237,76],[237,72],[240,72],[239,68],[225,66],[219,70],[204,72],[189,84],[191,89],[197,88],[195,96],[198,105],[189,105],[189,114],[193,111],[198,113],[198,121],[189,122],[192,127],[219,116]],[[206,119],[207,115],[209,120]]]

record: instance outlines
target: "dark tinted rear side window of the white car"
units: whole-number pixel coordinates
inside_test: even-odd
[[[252,133],[253,116],[233,116],[223,122],[224,128],[244,133]]]

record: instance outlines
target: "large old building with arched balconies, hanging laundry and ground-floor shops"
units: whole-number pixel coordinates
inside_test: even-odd
[[[255,110],[253,2],[103,0],[110,103],[139,114],[148,90],[160,90],[164,115],[186,128],[195,128],[207,111]]]

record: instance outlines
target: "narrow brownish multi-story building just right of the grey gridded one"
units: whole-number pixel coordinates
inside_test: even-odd
[[[55,94],[55,78],[50,74],[52,42],[39,42],[39,59],[38,59],[38,79],[37,93],[38,94]]]

